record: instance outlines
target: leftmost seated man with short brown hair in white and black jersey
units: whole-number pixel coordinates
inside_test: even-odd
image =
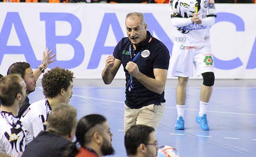
[[[0,154],[21,157],[25,146],[33,139],[18,118],[19,108],[26,98],[26,84],[20,75],[0,79]]]

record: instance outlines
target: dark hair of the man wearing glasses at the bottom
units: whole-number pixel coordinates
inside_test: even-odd
[[[124,136],[124,145],[127,155],[136,155],[140,144],[149,143],[149,134],[155,131],[154,128],[146,125],[131,126]]]

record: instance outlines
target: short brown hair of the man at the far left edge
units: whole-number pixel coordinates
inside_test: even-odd
[[[21,81],[18,74],[6,75],[0,79],[0,100],[3,106],[12,106],[16,95],[22,93]]]

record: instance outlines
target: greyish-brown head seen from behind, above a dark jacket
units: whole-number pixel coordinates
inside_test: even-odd
[[[76,116],[74,107],[68,104],[59,104],[49,115],[46,131],[59,134],[72,141],[75,136]]]

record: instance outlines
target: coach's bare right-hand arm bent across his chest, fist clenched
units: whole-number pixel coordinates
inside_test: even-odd
[[[145,86],[150,91],[158,94],[162,94],[165,89],[165,82],[167,79],[166,69],[153,69],[155,79],[150,78],[139,71],[137,64],[134,62],[128,62],[126,65],[126,70],[130,75],[135,77],[143,86]]]

